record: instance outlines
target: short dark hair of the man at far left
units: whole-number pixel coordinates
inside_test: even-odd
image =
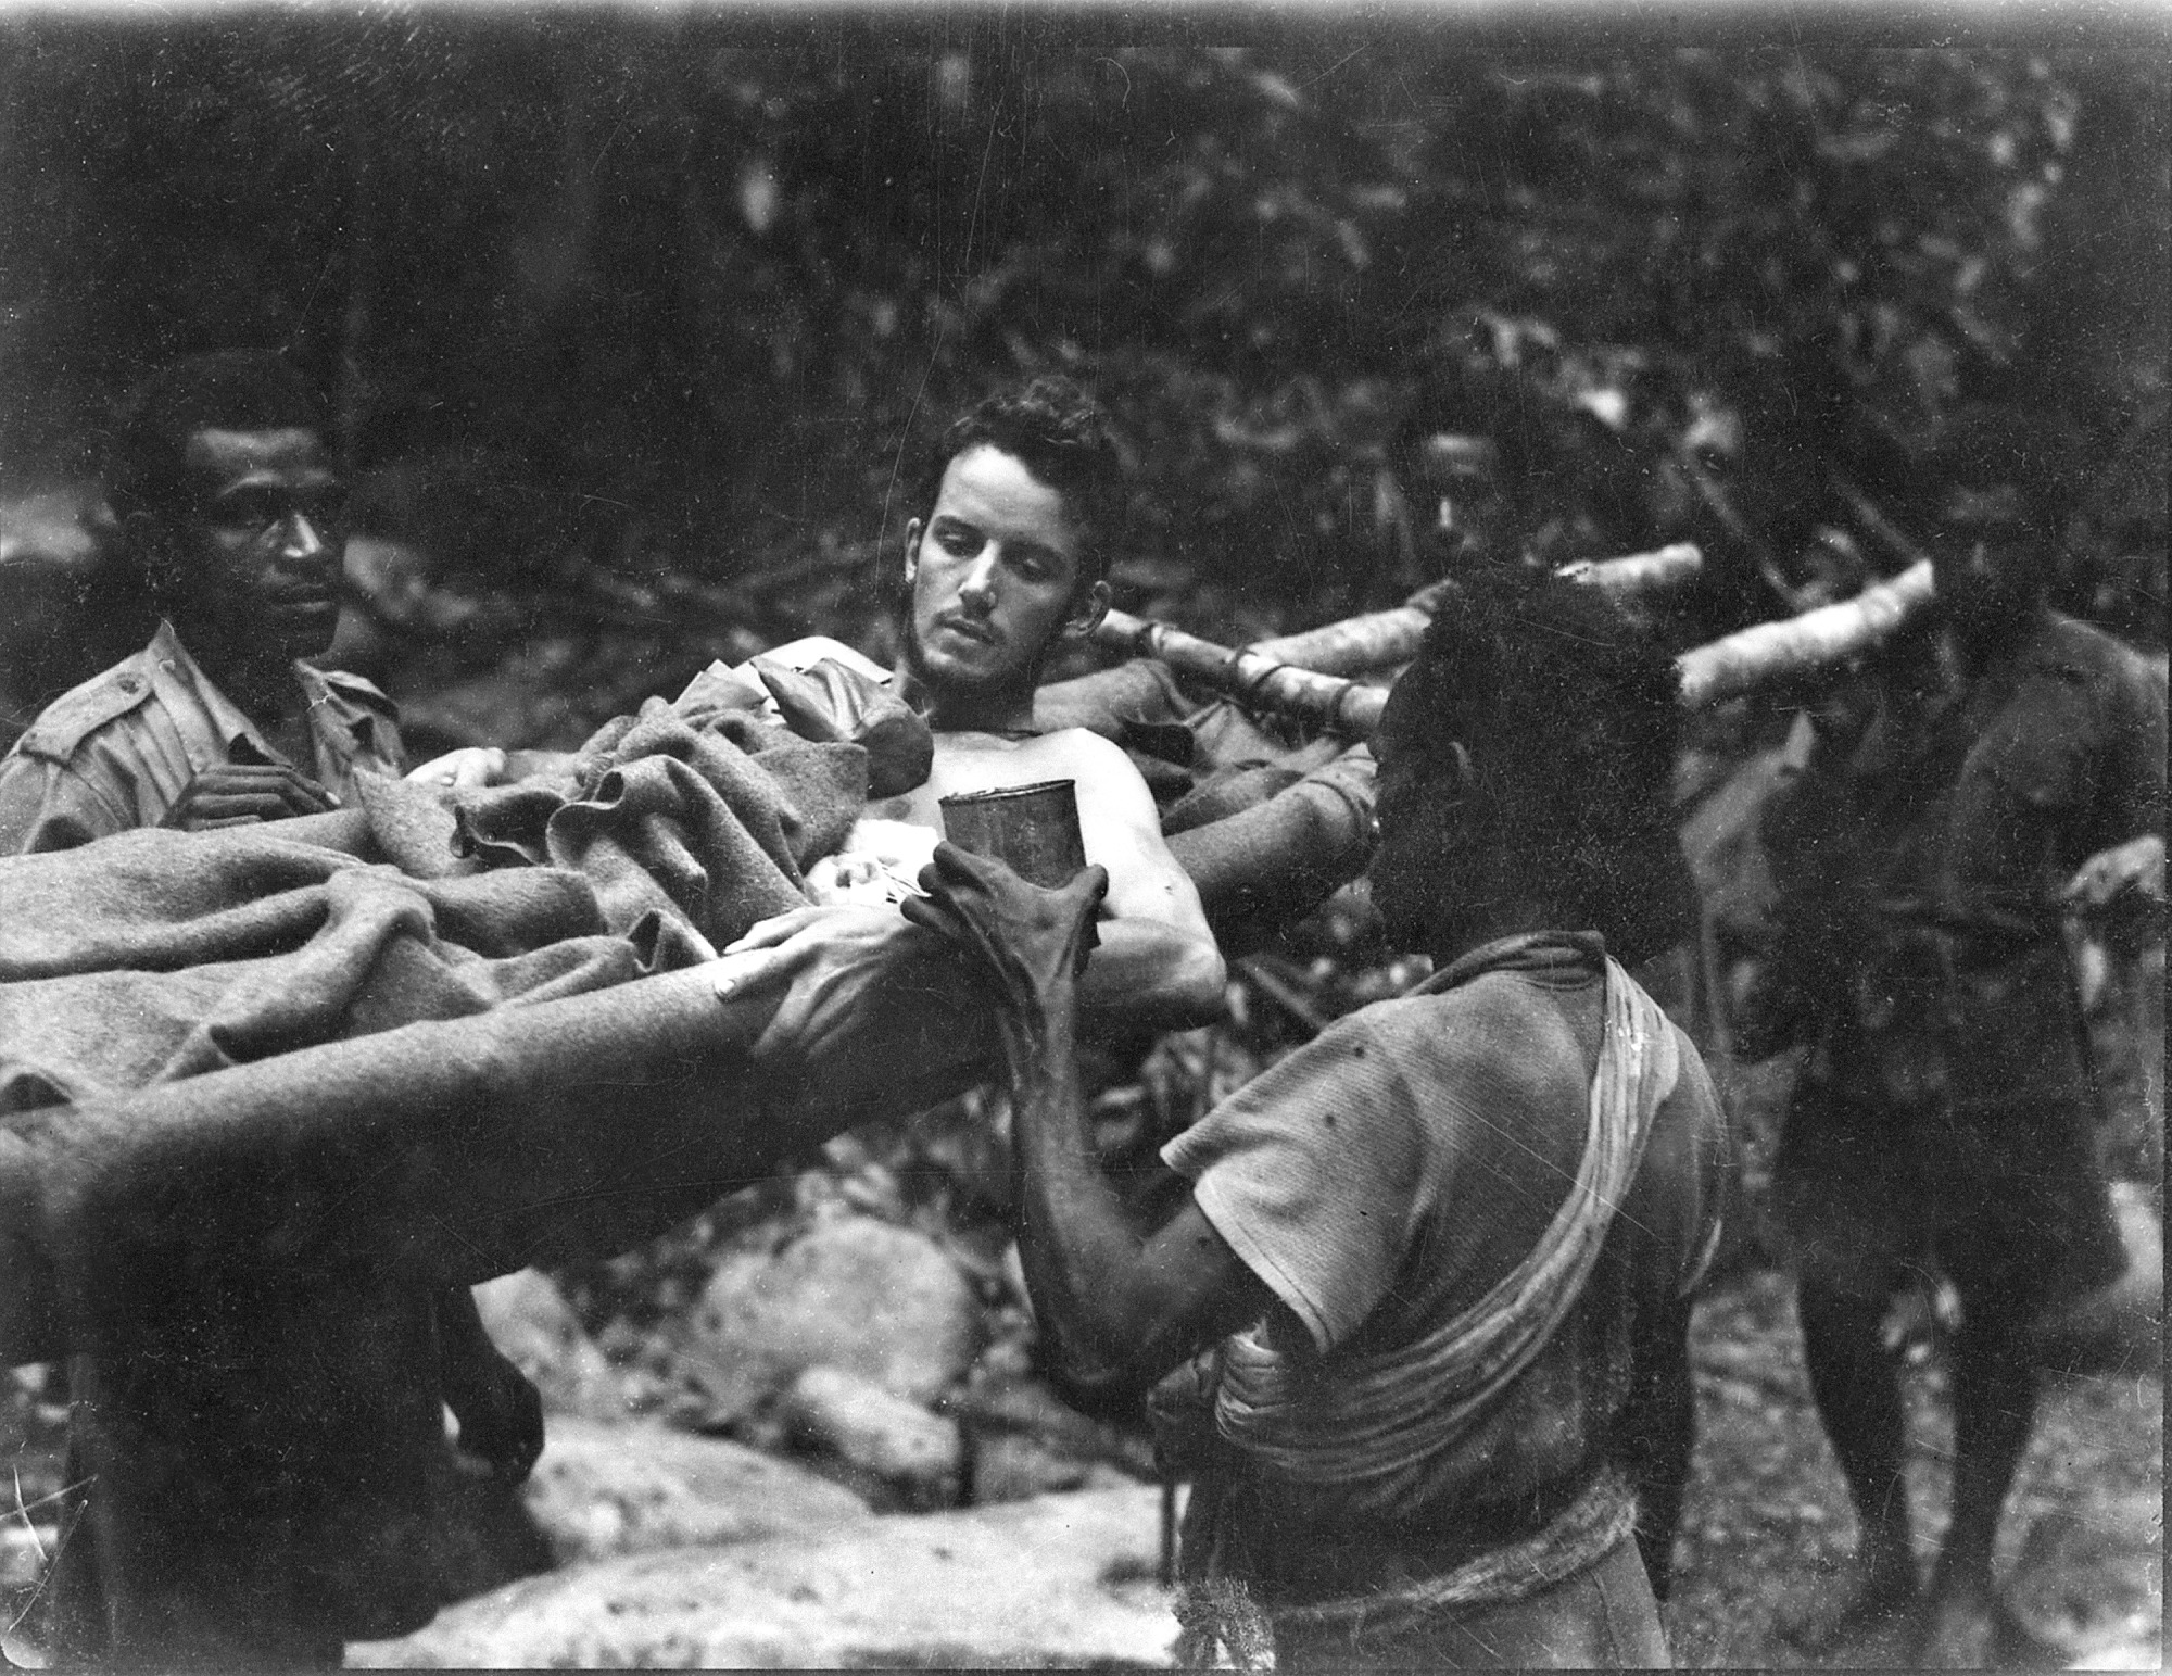
[[[315,430],[324,406],[274,350],[217,350],[152,373],[128,397],[106,443],[113,515],[189,510],[185,456],[200,430]]]

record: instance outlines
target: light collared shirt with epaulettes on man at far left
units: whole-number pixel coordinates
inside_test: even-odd
[[[354,775],[397,777],[400,712],[361,675],[298,662],[313,762],[341,803]],[[0,758],[0,855],[154,827],[204,769],[287,762],[161,623],[150,645],[63,693]]]

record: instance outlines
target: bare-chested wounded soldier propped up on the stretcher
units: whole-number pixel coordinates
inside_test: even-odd
[[[689,719],[756,710],[808,738],[851,738],[871,760],[862,818],[808,866],[812,905],[732,944],[728,953],[771,957],[732,964],[721,983],[815,968],[821,990],[819,973],[864,962],[895,934],[895,905],[943,836],[943,799],[1069,779],[1086,860],[1110,875],[1084,1005],[1147,1029],[1221,1014],[1223,960],[1201,892],[1164,842],[1140,771],[1112,738],[1036,723],[1049,653],[1108,610],[1116,471],[1106,421],[1069,384],[1043,380],[984,402],[951,426],[925,515],[906,525],[895,684],[849,647],[808,638],[741,669],[717,664],[678,697]],[[504,771],[504,753],[456,751],[413,777],[471,786]]]

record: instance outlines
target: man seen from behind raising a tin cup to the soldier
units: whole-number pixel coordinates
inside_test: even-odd
[[[1375,740],[1375,901],[1436,977],[1171,1142],[1145,1220],[1073,1068],[1099,875],[1045,892],[945,847],[906,905],[999,1012],[1045,1331],[1082,1381],[1162,1381],[1201,1659],[1666,1661],[1688,1298],[1729,1179],[1696,1049],[1618,964],[1688,910],[1672,688],[1596,591],[1444,601]]]

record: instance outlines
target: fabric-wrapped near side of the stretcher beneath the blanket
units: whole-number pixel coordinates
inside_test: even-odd
[[[721,1003],[693,968],[17,1112],[0,1357],[122,1348],[224,1266],[471,1285],[626,1250],[795,1151],[967,1088],[990,1042],[949,960],[901,940],[762,1062],[778,994]]]

